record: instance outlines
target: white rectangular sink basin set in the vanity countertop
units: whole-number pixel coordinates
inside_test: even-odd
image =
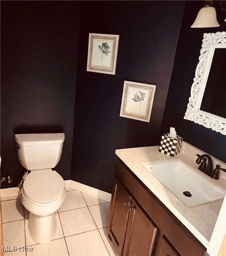
[[[143,166],[189,207],[212,202],[225,196],[225,192],[181,162],[144,163]],[[183,192],[186,192],[187,196]]]

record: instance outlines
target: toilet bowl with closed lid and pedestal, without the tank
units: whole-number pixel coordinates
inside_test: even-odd
[[[24,180],[20,200],[30,212],[28,229],[36,242],[48,243],[54,237],[57,229],[55,211],[64,199],[64,180],[56,171],[34,171]]]

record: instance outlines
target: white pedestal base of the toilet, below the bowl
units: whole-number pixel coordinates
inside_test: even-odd
[[[50,242],[57,230],[55,213],[47,216],[38,216],[30,212],[28,229],[37,243],[45,244]]]

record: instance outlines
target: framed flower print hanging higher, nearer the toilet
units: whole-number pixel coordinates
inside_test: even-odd
[[[89,34],[87,71],[115,75],[119,35]]]

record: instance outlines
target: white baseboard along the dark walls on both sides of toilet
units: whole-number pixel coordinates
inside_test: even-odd
[[[82,191],[87,194],[91,194],[95,197],[111,200],[111,194],[105,191],[99,190],[94,187],[90,187],[73,180],[65,180],[65,187],[71,187],[75,190]],[[1,188],[1,198],[3,197],[17,197],[19,196],[20,189],[18,187]]]

